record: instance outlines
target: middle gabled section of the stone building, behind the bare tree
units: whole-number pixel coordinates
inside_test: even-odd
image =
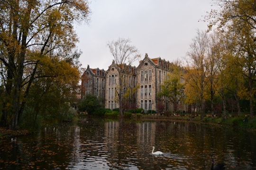
[[[115,61],[112,61],[112,64],[109,66],[109,69],[106,71],[106,91],[105,91],[105,108],[115,109],[119,108],[119,71],[118,67],[124,68],[124,77],[123,77],[123,86],[121,88],[123,92],[123,109],[135,109],[136,102],[136,93],[133,93],[136,87],[136,75],[135,67],[132,66],[118,66]]]

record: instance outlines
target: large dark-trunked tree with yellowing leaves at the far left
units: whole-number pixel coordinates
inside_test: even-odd
[[[78,41],[74,21],[87,21],[84,0],[1,0],[0,80],[4,86],[1,125],[16,129],[33,83],[58,75],[41,74],[45,61],[65,60]]]

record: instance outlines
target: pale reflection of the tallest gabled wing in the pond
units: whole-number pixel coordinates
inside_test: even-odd
[[[155,143],[155,122],[137,123],[137,143],[138,144],[154,144]]]

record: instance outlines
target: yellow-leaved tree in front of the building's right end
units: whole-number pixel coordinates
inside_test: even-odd
[[[174,112],[177,111],[178,102],[183,99],[184,85],[181,82],[183,78],[183,68],[177,63],[171,67],[172,73],[168,73],[161,84],[161,91],[157,94],[159,97],[165,96],[171,100],[174,106]]]

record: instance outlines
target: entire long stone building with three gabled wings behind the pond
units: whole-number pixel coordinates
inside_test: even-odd
[[[89,66],[82,76],[82,98],[91,93],[104,100],[105,108],[119,108],[119,81],[122,82],[123,109],[141,108],[148,113],[150,110],[158,112],[172,111],[173,103],[166,97],[158,97],[168,73],[172,73],[172,65],[169,61],[160,57],[150,59],[148,55],[139,62],[138,67],[118,66],[115,61],[109,66],[108,70]],[[119,79],[118,67],[124,67],[125,74]]]

